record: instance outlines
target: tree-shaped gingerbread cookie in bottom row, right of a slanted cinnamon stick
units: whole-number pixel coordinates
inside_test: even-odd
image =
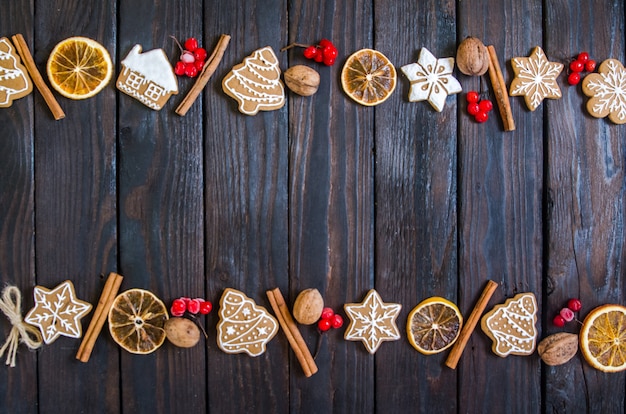
[[[493,341],[493,352],[504,358],[509,354],[531,355],[535,351],[536,322],[537,300],[528,292],[494,306],[483,316],[480,325]]]

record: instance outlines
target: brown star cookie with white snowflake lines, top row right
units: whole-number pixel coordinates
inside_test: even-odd
[[[509,95],[523,96],[526,106],[531,111],[537,109],[545,98],[561,97],[561,89],[556,78],[563,70],[563,64],[548,61],[539,46],[535,47],[527,58],[511,59],[511,66],[513,66],[515,78],[511,82]]]

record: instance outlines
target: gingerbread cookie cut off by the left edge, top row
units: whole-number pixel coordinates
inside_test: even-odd
[[[32,90],[33,83],[15,48],[9,39],[0,38],[0,108],[8,108]]]

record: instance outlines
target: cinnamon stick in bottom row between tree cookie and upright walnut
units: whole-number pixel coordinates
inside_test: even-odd
[[[306,346],[302,335],[300,335],[298,326],[291,317],[291,313],[289,312],[289,308],[285,303],[282,293],[280,293],[280,289],[276,288],[268,290],[267,298],[270,301],[270,305],[272,305],[272,309],[276,314],[280,327],[287,336],[289,345],[291,345],[293,352],[296,354],[296,358],[298,358],[298,362],[300,362],[300,365],[302,366],[304,375],[306,377],[310,377],[317,372],[317,365],[315,364],[315,360],[313,360],[313,356],[311,355],[311,352],[309,352],[309,348]]]

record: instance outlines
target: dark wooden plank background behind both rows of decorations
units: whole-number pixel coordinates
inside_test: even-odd
[[[626,127],[588,116],[580,86],[559,78],[563,98],[529,112],[511,98],[517,125],[503,132],[466,115],[464,94],[441,113],[409,103],[402,74],[393,96],[366,108],[340,87],[345,58],[373,47],[400,67],[420,48],[454,56],[467,35],[493,44],[507,84],[510,59],[540,45],[550,60],[588,51],[625,59],[622,0],[1,0],[0,36],[22,33],[40,70],[70,36],[98,40],[117,63],[134,44],[163,48],[196,36],[211,50],[232,40],[205,92],[185,117],[174,113],[192,82],[160,112],[119,93],[57,95],[54,121],[33,93],[0,109],[0,281],[23,292],[71,279],[97,302],[105,275],[122,289],[150,289],[217,304],[226,287],[268,306],[280,287],[291,304],[308,287],[341,309],[375,287],[403,305],[402,339],[375,356],[331,332],[303,376],[282,333],[258,358],[215,343],[217,309],[205,317],[207,346],[165,344],[148,356],[121,350],[105,327],[91,360],[78,340],[37,352],[20,347],[0,368],[6,413],[623,413],[626,377],[604,374],[580,354],[559,367],[495,356],[471,337],[457,370],[446,353],[423,356],[406,340],[408,312],[439,295],[467,317],[486,280],[491,305],[516,293],[538,299],[540,336],[580,297],[584,317],[626,303],[624,275]],[[279,111],[240,114],[221,79],[269,45],[282,69],[309,63],[288,43],[332,39],[338,63],[315,66],[316,95],[288,95]],[[117,71],[114,78],[117,76]],[[457,75],[464,91],[478,78]],[[484,83],[487,87],[488,82]],[[83,320],[85,326],[91,315]],[[0,340],[10,325],[0,317]],[[565,330],[577,332],[575,323]],[[303,330],[314,347],[317,334]],[[4,361],[3,361],[4,362]]]

